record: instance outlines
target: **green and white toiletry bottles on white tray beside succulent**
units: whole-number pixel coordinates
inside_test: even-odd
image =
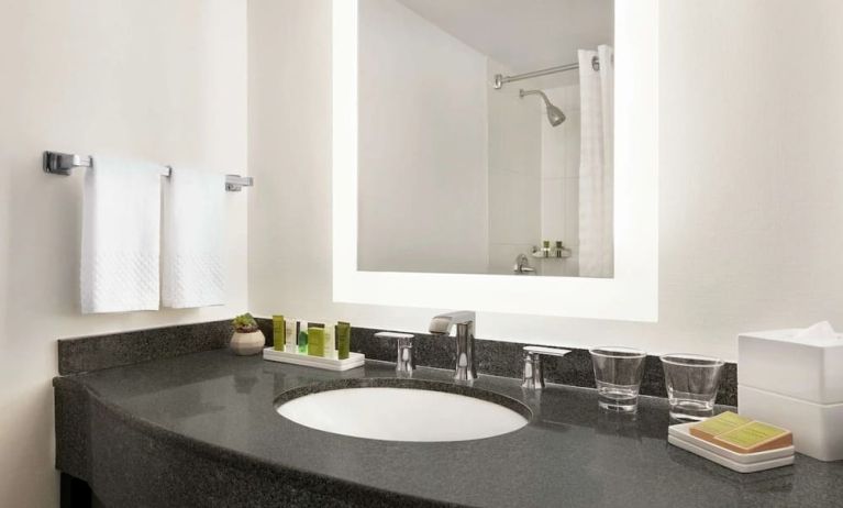
[[[344,321],[314,323],[273,316],[273,346],[264,349],[264,360],[348,371],[366,362],[365,355],[350,351],[351,339],[352,325]]]

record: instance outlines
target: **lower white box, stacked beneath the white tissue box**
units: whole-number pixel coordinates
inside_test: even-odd
[[[799,453],[827,462],[843,459],[843,404],[812,404],[737,385],[737,412],[791,431]]]

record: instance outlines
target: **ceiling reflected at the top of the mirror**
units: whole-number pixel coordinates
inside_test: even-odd
[[[611,44],[613,0],[398,0],[512,73],[575,62]]]

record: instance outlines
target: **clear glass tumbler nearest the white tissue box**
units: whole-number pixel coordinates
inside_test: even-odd
[[[697,354],[662,356],[670,418],[705,420],[714,413],[723,361]]]

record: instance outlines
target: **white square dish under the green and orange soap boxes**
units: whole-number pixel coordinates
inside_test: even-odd
[[[667,442],[739,473],[755,473],[794,463],[792,445],[766,452],[736,453],[692,435],[690,428],[695,424],[670,426]]]

